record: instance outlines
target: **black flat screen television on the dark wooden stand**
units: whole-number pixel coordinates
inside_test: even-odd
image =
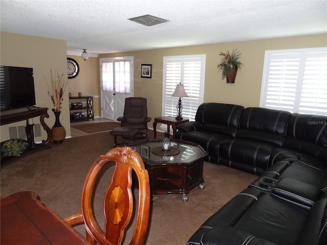
[[[0,66],[0,110],[35,104],[33,68]]]

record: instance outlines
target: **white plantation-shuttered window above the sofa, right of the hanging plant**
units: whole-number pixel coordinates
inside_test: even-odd
[[[327,115],[327,48],[266,51],[260,107]]]

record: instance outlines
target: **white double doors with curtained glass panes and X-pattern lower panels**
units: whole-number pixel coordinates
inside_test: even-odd
[[[133,57],[100,59],[102,117],[117,121],[133,96]]]

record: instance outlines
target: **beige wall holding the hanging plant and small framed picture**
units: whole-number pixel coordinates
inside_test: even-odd
[[[99,58],[134,57],[134,96],[148,99],[148,114],[154,118],[161,116],[164,56],[205,54],[204,102],[251,107],[259,106],[260,103],[266,50],[323,46],[327,46],[326,34],[105,54]],[[235,84],[227,84],[226,80],[221,80],[221,72],[218,72],[217,65],[221,60],[219,53],[227,50],[231,52],[233,48],[242,53],[241,62],[244,66],[239,69]],[[152,64],[152,79],[141,78],[141,64]],[[141,90],[137,90],[139,86]],[[152,123],[149,126],[151,127]]]

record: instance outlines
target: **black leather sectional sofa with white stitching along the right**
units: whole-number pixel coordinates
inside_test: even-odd
[[[327,116],[204,103],[177,128],[208,161],[259,175],[188,245],[327,244]]]

